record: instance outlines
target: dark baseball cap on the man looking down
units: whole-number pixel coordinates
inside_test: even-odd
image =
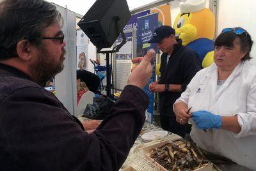
[[[159,43],[163,38],[170,36],[171,34],[175,35],[175,29],[171,26],[161,26],[154,31],[153,38],[148,43]]]

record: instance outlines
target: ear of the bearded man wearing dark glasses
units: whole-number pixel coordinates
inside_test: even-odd
[[[17,56],[24,61],[30,61],[31,60],[30,48],[31,48],[31,43],[28,40],[20,40],[16,46]]]

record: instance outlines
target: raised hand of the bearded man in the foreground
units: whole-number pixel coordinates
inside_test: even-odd
[[[143,89],[152,76],[152,66],[150,61],[154,57],[153,52],[148,52],[144,57],[132,59],[132,63],[140,63],[132,68],[132,73],[128,78],[127,84],[135,85]]]

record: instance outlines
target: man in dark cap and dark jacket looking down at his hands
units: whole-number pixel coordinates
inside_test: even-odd
[[[157,43],[157,48],[163,52],[161,77],[149,85],[150,91],[159,93],[161,126],[164,130],[184,137],[187,124],[176,121],[172,106],[201,69],[200,59],[193,50],[183,46],[180,39],[175,39],[175,29],[170,26],[157,28],[150,43]]]

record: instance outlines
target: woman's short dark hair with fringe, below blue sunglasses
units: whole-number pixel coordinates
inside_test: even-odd
[[[250,52],[252,50],[253,41],[250,34],[247,31],[244,31],[243,34],[236,34],[234,31],[228,31],[225,33],[221,33],[215,40],[214,46],[226,46],[226,47],[234,47],[234,40],[239,38],[239,45],[242,52],[247,52],[241,61],[250,60],[252,57],[250,56]]]

